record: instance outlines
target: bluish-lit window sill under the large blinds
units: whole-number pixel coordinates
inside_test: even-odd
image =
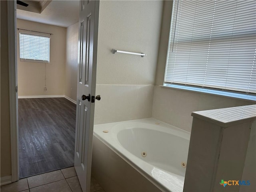
[[[254,95],[226,92],[226,91],[221,91],[221,90],[212,90],[212,89],[206,89],[206,88],[190,87],[190,86],[186,86],[186,85],[176,85],[176,84],[166,84],[166,83],[164,83],[164,85],[161,85],[161,87],[182,89],[182,90],[188,90],[188,91],[193,91],[193,92],[219,95],[219,96],[224,96],[224,97],[229,97],[229,98],[238,98],[238,99],[243,99],[243,100],[256,101],[256,96],[254,96]]]

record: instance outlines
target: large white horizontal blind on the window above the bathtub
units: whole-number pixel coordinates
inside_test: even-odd
[[[174,0],[164,81],[256,93],[255,0]]]

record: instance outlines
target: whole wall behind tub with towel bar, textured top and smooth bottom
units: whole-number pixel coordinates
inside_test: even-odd
[[[102,99],[95,124],[151,117],[162,7],[162,1],[100,1],[96,95]]]

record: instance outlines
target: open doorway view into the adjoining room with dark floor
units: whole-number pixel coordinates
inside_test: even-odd
[[[43,2],[17,4],[19,178],[74,166],[79,1]],[[49,62],[21,57],[21,32],[51,34]]]

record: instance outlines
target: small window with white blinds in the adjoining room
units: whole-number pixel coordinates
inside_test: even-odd
[[[20,60],[49,63],[50,38],[20,33]]]

